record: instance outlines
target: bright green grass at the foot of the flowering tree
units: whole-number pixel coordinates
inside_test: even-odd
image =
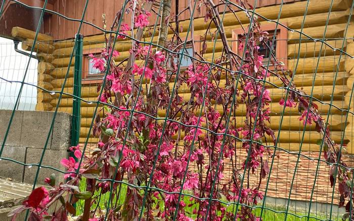
[[[83,178],[82,181],[80,182],[79,188],[80,188],[81,191],[85,191],[85,188],[86,188],[85,178]],[[120,191],[120,197],[119,197],[118,203],[117,203],[118,205],[119,204],[123,204],[125,196],[126,196],[126,190],[127,190],[127,186],[125,184],[122,184],[121,185],[121,191]],[[97,197],[97,201],[98,201],[99,207],[101,209],[106,209],[106,207],[107,207],[107,203],[106,202],[109,199],[109,194],[110,193],[107,192],[105,194],[102,194],[101,195],[101,199],[98,200],[99,194],[100,194],[99,192],[96,192],[95,195],[94,195],[94,198]],[[114,202],[115,202],[115,198],[116,197],[113,196],[113,201]],[[187,215],[189,217],[195,219],[197,216],[196,216],[196,214],[193,214],[193,210],[198,207],[198,204],[194,203],[194,200],[191,202],[189,196],[184,196],[183,200],[186,203],[185,211],[187,212]],[[83,204],[84,204],[84,200],[79,200],[76,203],[76,215],[82,214],[82,212],[83,212]],[[192,204],[192,205],[189,206],[190,204]],[[92,209],[95,209],[96,206],[97,206],[97,203],[94,203]],[[163,210],[163,208],[164,208],[164,204],[163,204],[163,202],[160,202],[160,209]],[[234,206],[234,205],[227,206],[227,211],[229,211],[229,212],[235,211],[235,209],[236,209],[236,206]],[[276,212],[272,211],[272,210],[275,210]],[[256,216],[259,216],[260,215],[260,211],[261,211],[260,208],[256,208],[254,210],[254,214],[256,214]],[[284,211],[284,212],[282,212],[282,211]],[[268,220],[275,220],[275,221],[285,220],[285,211],[286,211],[285,207],[281,207],[281,206],[277,206],[276,208],[266,207],[266,208],[263,209],[262,220],[264,220],[264,221],[268,221]],[[304,215],[307,216],[307,213],[299,212],[299,211],[290,211],[289,210],[289,213],[296,214],[297,216],[304,216]],[[307,220],[307,217],[299,218],[299,217],[297,217],[297,216],[295,216],[293,214],[288,214],[287,217],[286,217],[286,220],[290,220],[290,221],[305,221],[305,220]],[[310,214],[310,216],[311,217],[316,217],[316,218],[309,218],[308,219],[309,221],[327,220],[329,218],[329,215],[326,217],[326,216],[323,216],[323,215]],[[332,216],[332,220],[341,220],[341,217]]]

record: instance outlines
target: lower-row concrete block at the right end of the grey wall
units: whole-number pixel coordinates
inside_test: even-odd
[[[34,148],[28,148],[27,149],[27,157],[26,157],[26,162],[27,163],[39,163],[40,157],[42,155],[42,149],[34,149]],[[60,160],[62,158],[68,158],[68,152],[64,150],[51,150],[47,149],[42,161],[43,166],[50,166],[62,171],[65,171],[65,168],[60,164]],[[35,175],[37,173],[37,166],[33,166],[31,168],[26,167],[25,168],[25,176],[24,176],[24,183],[33,183],[35,179]],[[39,176],[37,179],[36,184],[45,184],[43,180],[46,177],[49,177],[51,174],[56,174],[56,181],[58,182],[63,182],[63,174],[60,172],[57,172],[53,169],[50,168],[40,168],[39,169]]]

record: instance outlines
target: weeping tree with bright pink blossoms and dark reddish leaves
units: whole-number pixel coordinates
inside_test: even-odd
[[[250,7],[238,2],[242,8]],[[268,162],[275,157],[275,149],[266,139],[268,135],[276,144],[275,133],[267,125],[272,99],[264,82],[271,75],[288,88],[279,104],[297,105],[300,121],[316,124],[316,130],[323,134],[325,159],[341,166],[331,169],[330,181],[333,185],[338,179],[340,206],[344,206],[349,198],[351,172],[341,160],[340,146],[332,141],[318,106],[289,79],[291,72],[274,56],[270,63],[275,70],[263,65],[259,45],[274,51],[273,40],[261,30],[257,18],[245,11],[250,24],[239,42],[240,56],[228,44],[217,6],[211,0],[202,1],[201,7],[208,12],[205,22],[209,27],[215,25],[213,40],[220,37],[223,54],[213,63],[204,60],[206,43],[204,40],[201,52],[196,50],[192,24],[188,43],[192,44],[193,54],[189,56],[197,59],[181,70],[180,52],[185,51],[187,42],[179,35],[178,16],[174,21],[177,27],[161,22],[161,26],[168,24],[173,31],[171,39],[162,40],[159,47],[139,43],[142,31],[149,26],[151,7],[152,2],[131,1],[127,10],[117,13],[111,30],[119,27],[116,38],[130,35],[132,39],[127,62],[117,64],[111,59],[119,56],[112,49],[112,34],[106,36],[101,57],[93,57],[94,67],[107,72],[98,87],[102,91],[98,99],[104,106],[100,109],[103,117],[97,115],[93,129],[93,134],[100,137],[97,148],[91,155],[82,155],[79,146],[71,147],[77,158],[83,157],[80,165],[72,157],[61,161],[67,169],[64,177],[71,179],[55,185],[55,177],[46,178],[52,189],[35,189],[13,214],[29,209],[32,220],[66,220],[67,212],[75,214],[73,203],[82,199],[83,220],[234,220],[235,216],[259,220],[252,207],[263,198],[261,183],[267,181]],[[191,4],[189,10],[193,17]],[[128,24],[118,22],[123,12],[134,15],[131,24],[138,28],[137,33]],[[188,99],[180,95],[183,90],[190,91]],[[235,113],[240,104],[246,107],[245,118],[237,127]],[[247,154],[239,164],[237,146]],[[224,176],[226,162],[232,165],[230,178]],[[252,176],[258,177],[254,183],[250,181]],[[80,192],[82,177],[86,178],[86,191]],[[127,185],[127,190],[122,196],[124,202],[119,204],[122,185]],[[105,208],[93,206],[107,192],[110,197]],[[230,210],[223,202],[240,206]],[[347,211],[352,207],[350,202],[347,200]],[[47,208],[54,203],[58,204],[55,212],[48,214]]]

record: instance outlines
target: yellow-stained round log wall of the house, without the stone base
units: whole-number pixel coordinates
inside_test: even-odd
[[[321,2],[321,4],[319,4]],[[319,1],[315,0],[309,4],[307,15],[305,19],[303,33],[314,37],[314,38],[322,38],[324,30],[326,29],[326,20],[328,16],[328,8],[331,1]],[[343,37],[346,29],[346,22],[349,17],[349,10],[346,7],[348,5],[348,1],[337,1],[332,6],[332,12],[330,14],[329,25],[327,26],[326,36],[328,39],[326,43],[329,45],[340,48],[343,43]],[[294,4],[284,5],[282,9],[280,22],[287,24],[290,29],[300,30],[301,23],[303,19],[305,2],[298,2]],[[258,12],[270,19],[276,19],[279,12],[279,6],[271,6],[271,7],[263,7],[258,9]],[[240,21],[243,25],[247,24],[248,18],[242,12],[237,12],[237,15],[240,18]],[[232,30],[241,28],[241,25],[231,18],[232,14],[227,14],[224,19],[225,30],[227,33],[227,37],[232,40]],[[268,22],[262,21],[262,24],[268,24]],[[181,22],[181,25],[188,26],[189,21]],[[212,57],[212,48],[213,42],[211,41],[211,36],[205,34],[206,25],[204,24],[203,19],[196,19],[194,21],[195,35],[201,36],[201,39],[207,39],[207,52],[205,54],[205,58],[208,61],[211,61]],[[212,31],[215,28],[213,27]],[[172,36],[172,33],[169,32],[169,37]],[[181,37],[186,37],[186,30],[181,33]],[[348,36],[347,36],[348,37]],[[153,41],[157,40],[157,35],[155,36],[145,36],[145,41],[150,41],[153,38]],[[321,42],[308,40],[304,35],[301,37],[303,40],[299,43],[299,34],[296,32],[288,31],[288,46],[287,46],[287,57],[288,57],[288,68],[296,69],[296,75],[294,82],[298,87],[303,87],[303,90],[307,94],[311,94],[312,91],[312,83],[314,80],[314,73],[316,71],[316,66],[318,63],[317,74],[315,79],[315,88],[313,96],[325,103],[329,103],[332,96],[333,90],[333,82],[335,80],[335,87],[333,93],[333,102],[332,104],[335,106],[331,107],[327,104],[319,103],[319,111],[325,118],[327,118],[327,114],[330,110],[330,120],[329,123],[333,130],[334,139],[337,141],[341,140],[341,131],[343,130],[343,125],[341,122],[345,121],[343,117],[343,113],[341,109],[347,108],[346,102],[344,102],[344,96],[350,92],[349,87],[346,85],[346,81],[349,77],[349,74],[345,71],[345,57],[342,56],[341,59],[339,50],[333,50],[329,46],[324,45],[322,50]],[[286,40],[286,39],[284,39]],[[84,50],[96,49],[103,47],[104,37],[103,35],[95,35],[95,36],[86,36],[84,37]],[[344,42],[344,45],[349,43],[347,41]],[[53,85],[55,90],[60,90],[62,84],[64,82],[64,77],[66,75],[70,54],[72,53],[72,40],[59,41],[54,43],[55,50],[52,53],[53,60],[51,64],[54,66],[48,66],[47,71],[51,72],[51,76],[53,77],[51,84]],[[222,43],[217,41],[215,47],[215,58],[220,56],[222,53]],[[119,41],[116,44],[116,49],[120,52],[121,56],[116,59],[116,61],[122,61],[123,59],[129,56],[130,42],[129,41]],[[345,47],[344,47],[345,49]],[[299,60],[297,60],[297,56],[299,56]],[[320,59],[318,57],[320,56]],[[318,62],[319,61],[319,62]],[[69,78],[66,81],[65,92],[72,93],[73,91],[73,66],[74,60],[72,61],[71,67],[69,69]],[[338,67],[338,73],[337,72]],[[279,80],[270,78],[271,82],[281,85]],[[222,81],[222,83],[225,81]],[[181,87],[179,91],[180,95],[184,97],[185,100],[190,98],[190,93],[188,88]],[[271,88],[271,96],[273,98],[273,103],[271,103],[272,108],[272,128],[278,129],[280,122],[280,113],[282,108],[278,105],[278,101],[284,96],[284,91]],[[82,87],[82,97],[86,100],[95,100],[98,96],[95,85],[83,85]],[[56,106],[58,94],[53,95],[53,98],[50,102],[52,106]],[[72,98],[69,95],[64,95],[63,99],[60,103],[59,110],[64,112],[71,113],[72,108]],[[87,136],[87,132],[91,126],[94,104],[87,104],[82,102],[81,109],[81,135],[80,141],[83,142],[85,137]],[[218,108],[220,112],[222,112],[222,108]],[[242,105],[236,111],[236,115],[239,116],[239,119],[242,120],[244,107]],[[159,113],[160,116],[164,116],[164,112],[161,111]],[[301,139],[302,134],[302,123],[298,121],[298,113],[297,109],[294,108],[286,108],[285,119],[283,121],[282,132],[281,132],[281,145],[284,144],[287,146],[287,143],[296,143]],[[289,125],[294,125],[289,127]],[[316,132],[313,132],[313,126],[307,126],[305,132],[304,142],[308,144],[316,144],[317,139],[320,139],[319,135]],[[93,142],[97,141],[97,138],[92,139]],[[348,138],[345,137],[344,142],[348,142]],[[319,149],[319,147],[313,146],[313,150]]]

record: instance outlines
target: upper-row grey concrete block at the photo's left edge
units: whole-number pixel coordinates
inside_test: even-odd
[[[5,145],[20,146],[20,137],[23,124],[23,111],[16,111],[10,126]],[[0,145],[3,145],[4,137],[9,126],[12,111],[0,110]]]

